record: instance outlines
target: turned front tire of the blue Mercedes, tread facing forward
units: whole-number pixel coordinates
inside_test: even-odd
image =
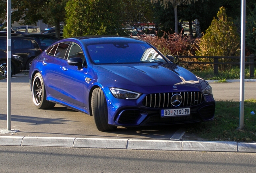
[[[93,90],[91,107],[96,127],[99,131],[114,131],[116,126],[108,124],[107,101],[101,88]]]

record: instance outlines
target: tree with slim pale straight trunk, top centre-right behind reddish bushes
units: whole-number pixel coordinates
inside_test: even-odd
[[[175,33],[178,33],[178,10],[177,7],[181,4],[191,4],[192,2],[195,2],[197,0],[151,0],[153,3],[160,2],[160,4],[163,4],[165,8],[169,7],[169,3],[174,8],[174,18],[175,18]]]

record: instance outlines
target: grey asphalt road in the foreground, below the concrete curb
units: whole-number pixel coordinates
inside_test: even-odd
[[[255,153],[0,147],[3,173],[252,173]]]

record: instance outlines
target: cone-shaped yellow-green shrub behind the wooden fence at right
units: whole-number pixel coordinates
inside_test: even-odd
[[[217,13],[211,26],[202,36],[197,56],[237,56],[239,55],[239,35],[232,18],[227,17],[225,8]]]

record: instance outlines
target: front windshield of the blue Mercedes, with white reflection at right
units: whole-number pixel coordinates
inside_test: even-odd
[[[146,43],[106,43],[87,46],[91,60],[95,64],[155,63],[165,59]]]

